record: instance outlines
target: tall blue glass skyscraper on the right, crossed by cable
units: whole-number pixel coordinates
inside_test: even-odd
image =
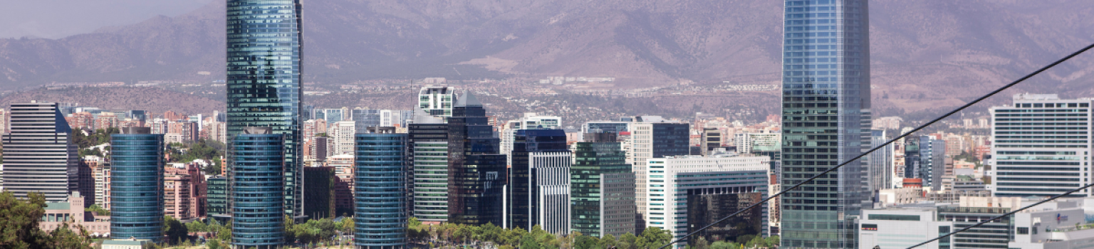
[[[784,0],[783,186],[868,150],[869,9],[868,0]],[[784,194],[782,247],[857,248],[852,218],[870,202],[866,187],[853,162]]]

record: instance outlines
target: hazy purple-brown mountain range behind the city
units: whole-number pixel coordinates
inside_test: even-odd
[[[1094,43],[1089,0],[874,0],[875,105],[953,106]],[[60,39],[0,39],[0,86],[213,81],[224,7]],[[614,76],[616,86],[778,84],[782,1],[326,0],[304,2],[304,78]],[[1094,94],[1094,56],[1008,92]],[[1009,98],[1009,96],[1006,96]],[[1001,102],[1001,100],[999,100]]]

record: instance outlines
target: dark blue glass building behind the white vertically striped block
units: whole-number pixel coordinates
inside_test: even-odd
[[[528,155],[535,152],[569,152],[566,146],[566,131],[562,130],[517,130],[513,140],[513,165],[509,175],[509,227],[531,230],[539,217],[536,181],[536,166],[531,165]]]

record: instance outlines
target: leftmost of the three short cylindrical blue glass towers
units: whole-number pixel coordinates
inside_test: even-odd
[[[163,134],[128,127],[110,135],[110,238],[163,238]]]

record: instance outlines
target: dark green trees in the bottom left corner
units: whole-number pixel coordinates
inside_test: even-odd
[[[0,248],[91,249],[92,240],[83,227],[73,230],[66,223],[48,233],[38,228],[45,213],[46,197],[40,193],[16,199],[11,192],[0,192]]]

